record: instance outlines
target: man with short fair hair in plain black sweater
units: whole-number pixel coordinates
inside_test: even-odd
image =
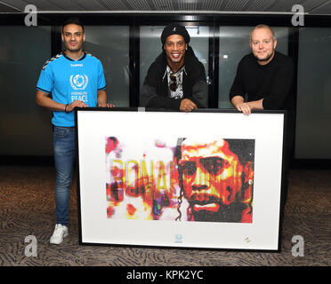
[[[285,167],[293,155],[295,132],[294,63],[275,51],[277,40],[266,25],[256,26],[250,39],[252,53],[240,60],[230,89],[230,101],[238,111],[250,114],[254,109],[286,110],[287,138]],[[287,200],[287,170],[284,177],[283,205]]]

